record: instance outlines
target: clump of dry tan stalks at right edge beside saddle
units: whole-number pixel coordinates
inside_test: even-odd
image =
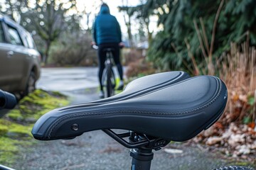
[[[231,44],[228,55],[216,65],[220,79],[228,87],[228,103],[220,120],[223,125],[231,122],[250,124],[256,122],[256,50],[243,44]]]

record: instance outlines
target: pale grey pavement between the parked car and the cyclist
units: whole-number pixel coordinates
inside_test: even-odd
[[[98,100],[97,67],[42,68],[37,89],[60,91],[71,103]]]

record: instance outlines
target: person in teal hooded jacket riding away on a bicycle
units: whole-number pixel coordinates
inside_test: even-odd
[[[99,60],[99,80],[100,80],[100,97],[104,97],[102,86],[102,74],[105,69],[106,48],[113,48],[113,59],[119,72],[119,86],[117,90],[122,90],[124,87],[122,64],[119,59],[119,47],[124,46],[122,42],[122,33],[117,21],[117,18],[110,14],[110,8],[107,4],[102,4],[100,13],[95,19],[93,26],[93,39],[92,45],[98,45],[98,60]]]

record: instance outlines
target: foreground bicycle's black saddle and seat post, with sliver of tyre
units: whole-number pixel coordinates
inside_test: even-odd
[[[36,140],[59,140],[102,130],[130,149],[132,170],[149,170],[152,150],[170,141],[190,140],[210,128],[222,115],[227,99],[227,88],[218,77],[153,74],[132,81],[112,98],[50,111],[36,122],[32,134]],[[112,129],[129,132],[117,134]]]

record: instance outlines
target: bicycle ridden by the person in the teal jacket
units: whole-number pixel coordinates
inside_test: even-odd
[[[97,45],[92,45],[92,48],[95,50],[98,49]],[[113,54],[114,48],[106,48],[104,50],[106,52],[106,60],[105,60],[105,69],[102,74],[102,86],[105,97],[114,96],[114,87],[116,86],[113,67]]]

